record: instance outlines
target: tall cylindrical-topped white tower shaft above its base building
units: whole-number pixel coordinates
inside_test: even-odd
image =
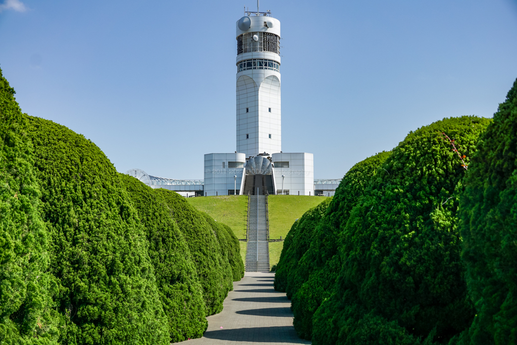
[[[248,12],[236,31],[237,152],[280,152],[280,21],[269,11]]]

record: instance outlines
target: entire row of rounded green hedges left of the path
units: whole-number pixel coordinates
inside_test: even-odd
[[[244,271],[229,228],[0,85],[0,343],[200,337]]]

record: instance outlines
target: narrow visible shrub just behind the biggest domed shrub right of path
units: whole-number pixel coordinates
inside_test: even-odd
[[[302,338],[311,339],[312,316],[323,300],[332,293],[332,287],[341,271],[341,260],[337,252],[339,235],[346,220],[368,181],[389,155],[389,152],[378,153],[355,164],[345,174],[325,217],[313,232],[309,250],[293,272],[293,324]]]

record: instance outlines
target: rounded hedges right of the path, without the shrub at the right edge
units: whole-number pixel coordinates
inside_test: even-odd
[[[354,169],[345,175],[310,249],[283,258],[297,266],[285,290],[294,288],[300,336],[313,344],[458,341],[476,314],[460,258],[458,207],[470,172],[463,165],[490,123],[463,116],[410,132],[378,157],[355,200]]]

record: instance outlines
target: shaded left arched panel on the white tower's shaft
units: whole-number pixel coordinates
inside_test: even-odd
[[[258,87],[252,78],[240,76],[237,79],[237,152],[248,156],[257,148]]]

